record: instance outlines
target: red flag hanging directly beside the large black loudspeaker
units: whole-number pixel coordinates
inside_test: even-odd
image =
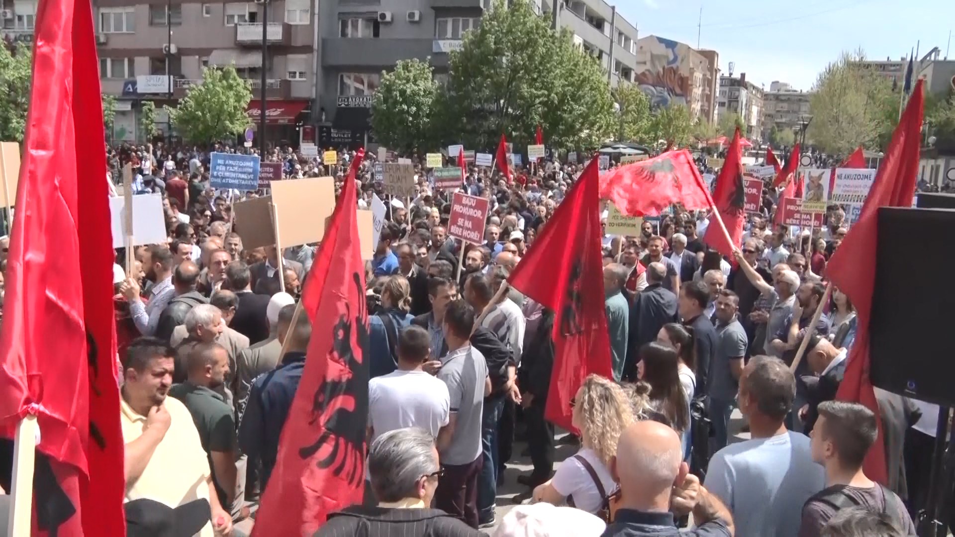
[[[915,85],[912,98],[905,106],[899,126],[892,134],[881,162],[876,180],[862,205],[859,221],[849,228],[842,244],[826,265],[826,275],[832,284],[842,290],[856,305],[859,315],[856,343],[849,354],[845,376],[839,384],[836,398],[859,402],[879,416],[879,404],[869,381],[869,319],[872,313],[872,294],[876,284],[876,237],[879,207],[908,207],[915,194],[919,172],[920,145],[923,119],[923,81]],[[881,419],[879,424],[880,436]],[[865,475],[879,483],[887,483],[885,452],[882,440],[869,448],[863,464]]]

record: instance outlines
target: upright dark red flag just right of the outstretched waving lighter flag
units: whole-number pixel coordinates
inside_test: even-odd
[[[713,205],[719,211],[727,233],[716,222],[714,215],[710,216],[710,225],[707,226],[703,242],[711,248],[732,257],[732,250],[743,242],[743,224],[746,223],[746,213],[743,210],[746,201],[746,183],[743,181],[743,153],[739,149],[739,127],[732,135],[730,149],[726,153],[726,161],[716,177],[716,188],[713,190]]]

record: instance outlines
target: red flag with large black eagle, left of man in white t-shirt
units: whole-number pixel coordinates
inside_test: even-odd
[[[354,177],[364,157],[351,162],[308,271],[301,313],[314,329],[253,537],[312,535],[329,513],[362,501],[369,339]]]

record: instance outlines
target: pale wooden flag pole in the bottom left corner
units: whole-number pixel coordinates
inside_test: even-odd
[[[7,535],[30,537],[33,505],[33,465],[36,462],[36,416],[28,414],[16,426],[13,439],[13,480]]]

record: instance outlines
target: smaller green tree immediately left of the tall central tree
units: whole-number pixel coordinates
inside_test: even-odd
[[[403,152],[427,150],[434,140],[431,123],[437,83],[427,61],[401,60],[381,77],[371,101],[371,128],[386,147]]]

